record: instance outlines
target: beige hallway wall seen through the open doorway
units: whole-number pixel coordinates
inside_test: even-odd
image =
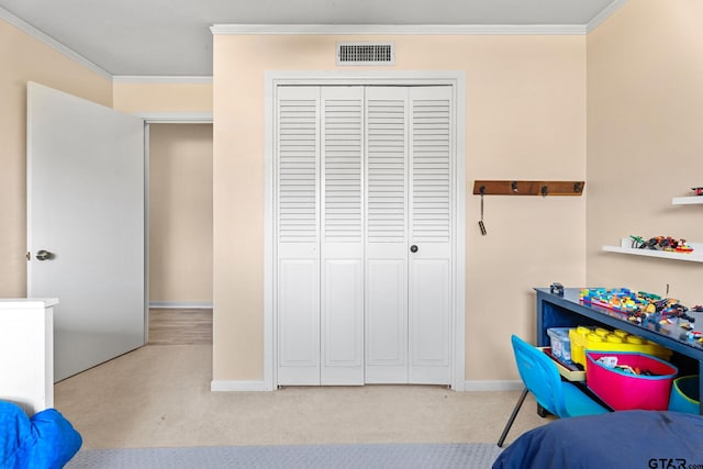
[[[212,124],[149,125],[148,299],[212,303]]]

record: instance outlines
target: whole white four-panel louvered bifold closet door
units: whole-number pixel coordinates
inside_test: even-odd
[[[278,384],[450,382],[453,114],[449,87],[278,88]]]

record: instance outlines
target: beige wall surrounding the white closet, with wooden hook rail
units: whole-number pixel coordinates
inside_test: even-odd
[[[583,36],[215,36],[215,380],[263,379],[264,74],[335,69],[349,40],[395,42],[377,70],[466,71],[469,187],[585,177]],[[532,288],[584,283],[585,198],[488,197],[488,236],[467,200],[466,376],[516,379],[509,337],[534,336]]]

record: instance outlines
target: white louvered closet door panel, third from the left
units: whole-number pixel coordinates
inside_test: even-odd
[[[366,382],[408,382],[408,88],[366,89]]]

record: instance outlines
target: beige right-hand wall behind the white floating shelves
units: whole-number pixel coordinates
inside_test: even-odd
[[[628,2],[588,36],[590,286],[703,303],[703,266],[603,253],[631,234],[703,241],[703,2]]]

